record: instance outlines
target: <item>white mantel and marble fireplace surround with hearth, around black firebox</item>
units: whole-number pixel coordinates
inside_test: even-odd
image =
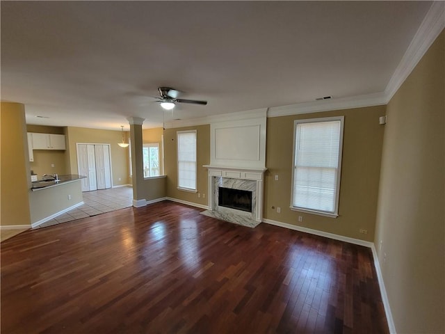
[[[254,228],[261,223],[263,213],[264,172],[266,168],[232,168],[206,165],[209,169],[209,210],[206,216]],[[252,191],[252,212],[220,207],[219,187]]]

